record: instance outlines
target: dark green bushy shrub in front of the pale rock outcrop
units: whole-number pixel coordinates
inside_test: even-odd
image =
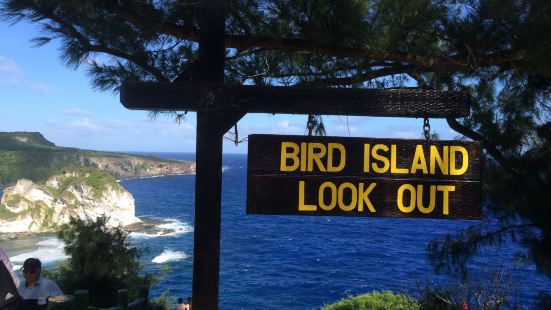
[[[90,302],[95,306],[116,304],[116,291],[149,285],[154,279],[140,274],[140,253],[128,241],[121,228],[108,228],[107,218],[95,221],[72,218],[58,236],[69,256],[60,264],[55,280],[65,292],[90,290]],[[132,297],[132,296],[131,296]]]

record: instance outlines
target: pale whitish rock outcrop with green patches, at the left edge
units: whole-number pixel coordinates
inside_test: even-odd
[[[106,215],[108,225],[140,222],[134,198],[108,173],[94,169],[66,172],[44,184],[21,179],[4,189],[0,200],[0,233],[55,231],[70,217]]]

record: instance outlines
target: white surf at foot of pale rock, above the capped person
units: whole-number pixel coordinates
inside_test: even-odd
[[[38,249],[24,252],[10,257],[11,262],[14,265],[14,269],[21,268],[23,262],[27,258],[38,258],[43,264],[49,264],[60,260],[68,259],[65,255],[64,247],[65,243],[57,238],[48,238],[36,243]]]

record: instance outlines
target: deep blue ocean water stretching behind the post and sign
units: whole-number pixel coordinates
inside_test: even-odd
[[[147,153],[146,155],[150,155]],[[194,154],[151,154],[194,159]],[[426,246],[473,221],[352,217],[246,215],[246,155],[223,157],[220,309],[319,309],[349,295],[392,290],[414,296],[419,285],[447,285],[456,279],[435,274]],[[125,180],[136,201],[136,215],[170,220],[174,230],[159,236],[131,234],[143,251],[144,270],[170,267],[152,297],[191,295],[193,263],[194,175]],[[64,259],[63,245],[51,234],[1,240],[16,265],[39,257],[46,268]],[[533,264],[515,263],[522,248],[513,242],[482,248],[470,263],[475,283],[499,274],[516,301],[534,307],[539,292],[551,293],[551,281]],[[488,284],[490,285],[490,284]],[[504,284],[505,285],[505,284]]]

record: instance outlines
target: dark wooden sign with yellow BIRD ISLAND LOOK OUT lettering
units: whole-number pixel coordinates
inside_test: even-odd
[[[480,143],[251,135],[247,214],[480,219]]]

